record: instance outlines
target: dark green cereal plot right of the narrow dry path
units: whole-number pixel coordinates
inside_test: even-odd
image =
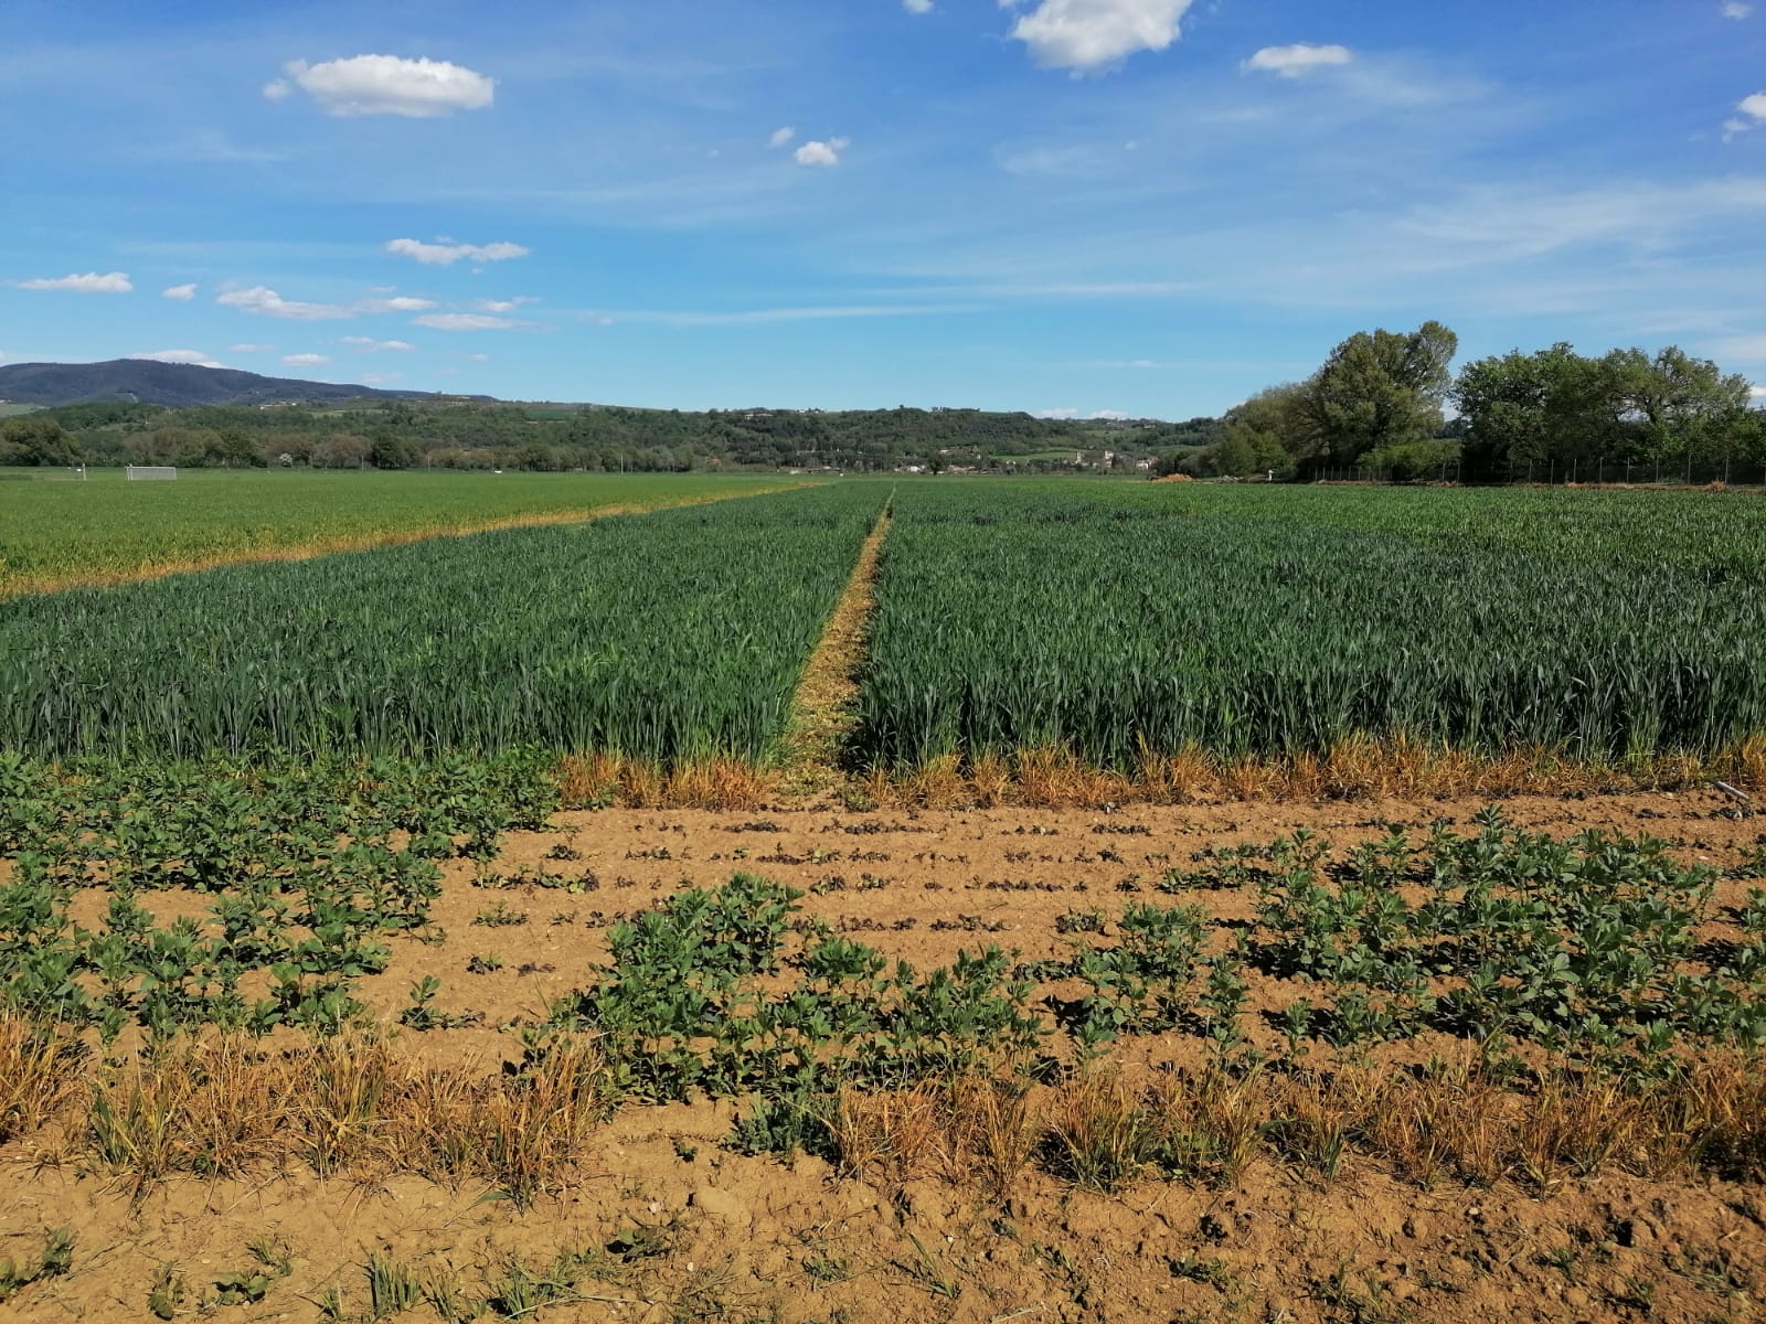
[[[857,754],[1132,770],[1402,736],[1623,759],[1766,731],[1766,512],[1339,496],[902,487]]]

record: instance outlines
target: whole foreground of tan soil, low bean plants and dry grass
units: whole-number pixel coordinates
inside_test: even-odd
[[[1727,796],[525,786],[14,773],[25,1317],[1743,1319],[1766,1283],[1766,840]]]

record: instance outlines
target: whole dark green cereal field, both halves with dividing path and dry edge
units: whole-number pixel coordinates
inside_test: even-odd
[[[1090,773],[1075,800],[1754,782],[1762,521],[1722,496],[842,482],[16,598],[0,747],[535,749],[583,798],[706,803],[834,770],[929,801],[1063,773]],[[781,782],[811,745],[821,775]]]

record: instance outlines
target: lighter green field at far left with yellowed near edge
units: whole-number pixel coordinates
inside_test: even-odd
[[[94,470],[0,484],[0,597],[166,570],[740,496],[745,475]]]

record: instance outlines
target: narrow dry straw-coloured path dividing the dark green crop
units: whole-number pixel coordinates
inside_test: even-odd
[[[878,554],[888,528],[890,508],[885,505],[871,537],[858,549],[846,591],[828,616],[821,641],[798,681],[786,722],[784,768],[777,787],[786,803],[804,803],[844,782],[841,750],[858,717],[858,681],[871,634],[871,611],[876,606]]]

